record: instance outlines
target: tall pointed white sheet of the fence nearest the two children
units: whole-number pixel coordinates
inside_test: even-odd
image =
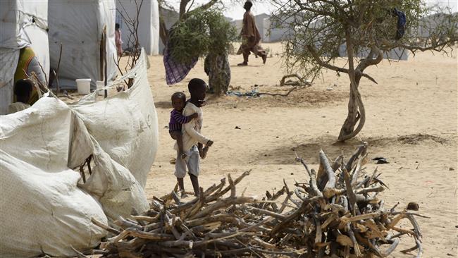
[[[147,80],[147,56],[142,51],[132,70],[107,87],[133,78],[132,87],[106,99],[87,95],[70,107],[84,121],[89,134],[104,151],[130,173],[144,188],[156,157],[159,130],[156,108]]]

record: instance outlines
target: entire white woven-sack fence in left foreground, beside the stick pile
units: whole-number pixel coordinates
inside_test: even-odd
[[[142,54],[107,88],[134,85],[106,99],[94,92],[68,106],[45,96],[0,116],[0,257],[75,256],[71,247],[95,247],[106,234],[92,218],[107,224],[149,208],[143,186],[159,135],[146,66]],[[83,183],[73,168],[91,154]]]

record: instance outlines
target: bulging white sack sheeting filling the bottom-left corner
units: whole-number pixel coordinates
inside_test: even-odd
[[[100,204],[77,187],[68,150],[72,111],[44,97],[32,107],[0,116],[0,256],[73,256],[106,235]]]

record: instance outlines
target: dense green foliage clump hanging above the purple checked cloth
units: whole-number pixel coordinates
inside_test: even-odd
[[[237,31],[216,8],[196,9],[175,24],[169,35],[175,61],[191,63],[209,53],[225,54],[237,38]]]

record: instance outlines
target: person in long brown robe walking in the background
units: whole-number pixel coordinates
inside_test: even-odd
[[[261,56],[262,62],[266,63],[267,53],[259,45],[261,41],[261,35],[256,27],[256,20],[254,20],[253,13],[250,11],[253,6],[251,1],[246,1],[243,8],[246,12],[243,15],[243,27],[240,35],[242,36],[242,45],[237,51],[237,55],[243,54],[243,62],[237,64],[237,66],[247,66],[248,56],[250,52],[253,52],[256,56]]]

